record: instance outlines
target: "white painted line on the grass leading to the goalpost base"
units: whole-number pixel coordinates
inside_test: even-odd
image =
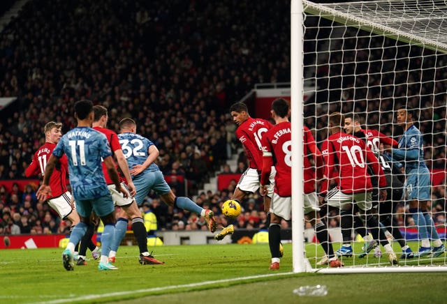
[[[189,287],[200,287],[200,286],[206,286],[210,284],[219,284],[219,283],[226,283],[226,282],[237,282],[237,281],[244,281],[244,280],[251,280],[251,279],[258,279],[258,278],[269,278],[269,277],[277,277],[281,275],[293,275],[295,273],[289,272],[289,273],[270,273],[268,275],[251,275],[248,277],[241,277],[241,278],[231,278],[231,279],[224,279],[224,280],[214,280],[214,281],[206,281],[206,282],[197,282],[197,283],[191,283],[191,284],[181,284],[181,285],[174,285],[174,286],[165,286],[165,287],[154,287],[154,288],[147,288],[147,289],[137,289],[137,290],[129,290],[129,291],[117,291],[112,292],[108,294],[89,294],[87,296],[75,296],[75,298],[61,298],[54,301],[45,301],[45,302],[37,302],[38,304],[57,304],[57,303],[70,303],[75,301],[89,301],[94,300],[96,298],[103,298],[104,296],[126,296],[129,294],[142,294],[147,292],[153,292],[153,291],[163,291],[163,290],[169,290],[169,289],[182,289],[182,288],[189,288]],[[148,295],[150,296],[150,295]]]

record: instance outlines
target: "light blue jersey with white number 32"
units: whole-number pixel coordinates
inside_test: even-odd
[[[121,144],[121,149],[123,151],[124,157],[127,160],[127,164],[129,165],[129,169],[132,169],[135,165],[141,165],[147,157],[149,156],[149,146],[154,145],[146,137],[142,137],[141,135],[126,132],[118,135],[119,144]],[[143,174],[145,172],[153,172],[158,171],[159,166],[155,165],[153,162],[149,167],[145,169],[145,171],[141,172]],[[138,176],[137,176],[138,177]]]

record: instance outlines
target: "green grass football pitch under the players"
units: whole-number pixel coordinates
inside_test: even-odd
[[[284,244],[279,271],[268,269],[268,244],[161,246],[154,256],[166,264],[145,266],[123,246],[118,271],[93,259],[66,271],[59,248],[0,250],[0,303],[447,303],[446,273],[293,274],[291,250]],[[328,294],[293,294],[316,284]]]

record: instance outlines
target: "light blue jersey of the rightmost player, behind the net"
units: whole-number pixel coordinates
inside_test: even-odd
[[[406,129],[398,144],[399,148],[393,149],[393,158],[403,162],[406,173],[412,169],[427,167],[424,160],[423,137],[418,128],[412,125]]]

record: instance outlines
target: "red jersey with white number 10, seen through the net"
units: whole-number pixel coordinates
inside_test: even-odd
[[[383,169],[379,160],[367,148],[362,139],[339,132],[330,135],[323,142],[323,158],[325,160],[325,176],[333,176],[338,171],[339,189],[344,193],[358,193],[372,190],[371,176],[367,170],[371,166],[374,175],[379,176],[379,186],[386,186]],[[325,180],[321,190],[328,191],[328,180]]]

